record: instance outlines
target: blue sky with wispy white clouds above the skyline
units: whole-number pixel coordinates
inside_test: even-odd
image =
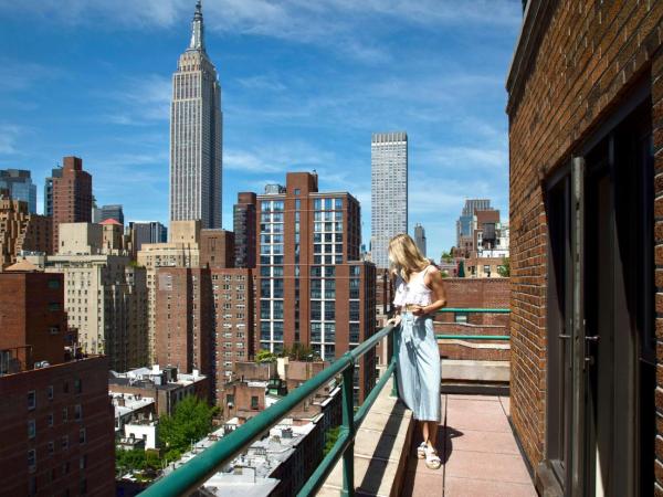
[[[0,168],[84,160],[99,204],[168,220],[170,76],[194,0],[0,0]],[[316,169],[361,201],[370,134],[410,140],[410,229],[455,242],[466,198],[508,214],[504,82],[519,0],[207,0],[222,86],[223,226],[238,191]]]

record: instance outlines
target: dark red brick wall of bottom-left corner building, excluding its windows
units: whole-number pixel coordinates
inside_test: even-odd
[[[75,380],[81,380],[76,392]],[[48,388],[53,387],[53,399]],[[34,390],[36,406],[28,409],[28,391]],[[82,416],[75,419],[75,406]],[[64,419],[66,411],[66,421]],[[49,415],[53,426],[49,426]],[[28,438],[28,421],[35,421],[35,436]],[[80,443],[80,430],[85,442]],[[62,445],[69,437],[69,447]],[[115,494],[115,433],[108,400],[108,361],[95,357],[0,378],[0,468],[7,476],[2,496],[29,495],[34,478],[38,495],[80,495],[85,479],[87,495]],[[54,443],[53,454],[49,442]],[[34,450],[36,465],[28,468],[28,451]],[[81,469],[81,458],[85,468]],[[11,477],[9,477],[11,475]]]

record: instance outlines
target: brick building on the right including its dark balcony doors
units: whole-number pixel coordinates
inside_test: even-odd
[[[663,2],[524,3],[513,425],[546,495],[663,495]]]

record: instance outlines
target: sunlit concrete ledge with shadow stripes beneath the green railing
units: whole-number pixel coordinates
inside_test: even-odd
[[[355,488],[358,496],[400,495],[414,422],[412,412],[390,396],[392,381],[387,382],[357,431]],[[341,488],[343,461],[339,461],[317,495],[338,497]]]

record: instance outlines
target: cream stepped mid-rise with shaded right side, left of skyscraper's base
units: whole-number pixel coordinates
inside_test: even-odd
[[[27,256],[48,273],[64,275],[69,327],[85,353],[108,356],[110,368],[126,371],[147,362],[146,269],[120,251],[107,253],[103,226],[63,223],[57,255]]]

